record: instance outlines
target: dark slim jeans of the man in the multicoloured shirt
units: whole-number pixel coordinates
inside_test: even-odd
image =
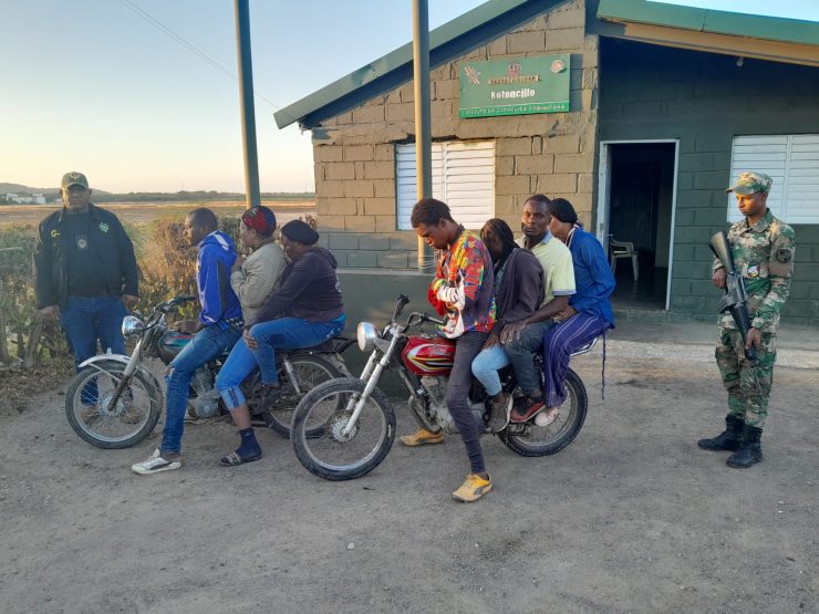
[[[480,353],[487,336],[487,333],[468,331],[455,340],[455,360],[446,383],[446,406],[460,431],[473,473],[486,471],[478,423],[469,407],[469,388],[473,385],[473,361]]]

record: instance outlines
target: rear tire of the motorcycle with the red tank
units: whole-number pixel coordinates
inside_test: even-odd
[[[566,373],[566,403],[552,424],[539,427],[533,418],[525,425],[512,423],[498,433],[498,438],[520,456],[550,456],[562,450],[580,433],[589,408],[583,381],[571,368]]]

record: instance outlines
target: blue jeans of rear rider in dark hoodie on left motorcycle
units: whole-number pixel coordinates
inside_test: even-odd
[[[261,381],[265,384],[276,384],[279,381],[274,348],[298,350],[319,345],[341,334],[341,331],[344,330],[344,320],[343,315],[331,322],[308,322],[298,318],[279,318],[252,326],[250,336],[257,340],[259,347],[252,351],[243,341],[237,343],[216,378],[216,388],[221,394],[227,408],[232,412],[239,405],[246,403],[240,386],[257,365],[261,371]]]

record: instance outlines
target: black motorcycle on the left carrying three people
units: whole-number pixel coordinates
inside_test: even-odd
[[[154,430],[162,414],[165,392],[144,358],[168,365],[194,335],[168,327],[166,315],[195,296],[176,296],[156,305],[147,319],[123,319],[125,339],[136,339],[131,356],[100,354],[80,365],[65,394],[69,424],[89,444],[99,448],[127,448]],[[240,341],[240,343],[242,343]],[[276,352],[283,394],[270,408],[259,406],[261,381],[256,370],[242,383],[250,414],[257,425],[269,426],[290,437],[290,422],[299,400],[322,382],[350,375],[341,353],[354,340],[338,337],[317,347]],[[190,382],[187,415],[208,418],[227,413],[215,387],[216,375],[227,353],[201,365]]]

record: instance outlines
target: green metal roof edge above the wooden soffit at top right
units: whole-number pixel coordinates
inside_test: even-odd
[[[647,0],[600,0],[598,18],[712,34],[819,45],[819,23],[798,19],[712,11]]]

